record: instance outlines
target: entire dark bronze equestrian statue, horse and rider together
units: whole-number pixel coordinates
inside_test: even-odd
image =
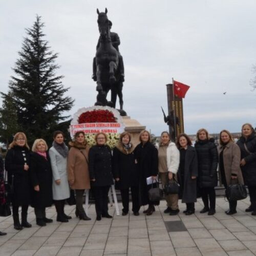
[[[92,79],[97,82],[96,91],[97,102],[95,105],[108,105],[116,108],[117,96],[120,104],[120,114],[126,115],[123,111],[122,87],[124,81],[123,58],[118,46],[120,39],[117,33],[111,32],[112,22],[108,19],[105,12],[98,13],[99,40],[96,47],[96,56],[93,59]],[[111,91],[111,101],[106,99],[108,92]]]

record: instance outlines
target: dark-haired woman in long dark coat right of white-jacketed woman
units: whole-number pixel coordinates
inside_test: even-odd
[[[180,197],[182,203],[186,203],[185,215],[195,213],[197,202],[197,176],[198,159],[195,147],[191,146],[189,137],[182,133],[177,138],[177,147],[180,151],[180,165],[178,169],[178,181],[180,184]]]

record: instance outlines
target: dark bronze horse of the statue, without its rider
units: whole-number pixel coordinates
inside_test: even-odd
[[[119,96],[120,109],[122,110],[122,82],[118,70],[118,52],[113,47],[110,36],[109,19],[105,12],[98,13],[98,28],[99,28],[99,48],[96,51],[96,79],[98,91],[97,102],[95,105],[109,105],[115,108],[116,98]],[[108,92],[111,90],[111,101],[106,99]]]

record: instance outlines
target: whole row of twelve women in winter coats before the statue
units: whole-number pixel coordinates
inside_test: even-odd
[[[65,214],[64,205],[70,197],[70,187],[75,190],[75,215],[80,220],[91,220],[82,206],[84,190],[90,188],[95,198],[96,219],[112,218],[108,212],[108,194],[113,180],[121,191],[123,216],[129,212],[129,189],[134,215],[138,216],[140,206],[145,205],[148,207],[143,213],[152,215],[159,201],[150,201],[148,191],[156,186],[154,180],[158,176],[163,186],[172,180],[180,185],[179,194],[165,195],[165,213],[177,215],[178,199],[181,198],[182,203],[186,203],[184,213],[193,214],[201,194],[204,207],[200,213],[214,215],[218,164],[220,182],[225,188],[245,181],[251,201],[246,211],[256,215],[256,136],[250,124],[242,126],[242,136],[237,143],[227,130],[221,131],[218,148],[205,129],[197,132],[195,147],[186,134],[180,134],[176,144],[170,141],[167,132],[161,134],[161,141],[156,146],[145,130],[139,139],[140,143],[135,147],[131,143],[131,134],[122,133],[112,156],[104,133],[95,136],[96,145],[90,148],[84,133],[77,132],[69,143],[69,151],[63,133],[56,131],[49,153],[45,140],[35,140],[30,152],[26,135],[22,132],[15,134],[5,159],[12,187],[14,228],[31,227],[27,220],[29,205],[34,207],[39,226],[53,221],[46,217],[46,207],[52,203],[57,211],[56,220],[68,222],[71,217]],[[22,206],[21,222],[19,206]],[[236,206],[237,201],[230,201],[226,214],[235,214]]]

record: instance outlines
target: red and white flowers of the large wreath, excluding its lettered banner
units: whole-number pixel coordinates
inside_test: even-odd
[[[79,109],[73,116],[71,125],[82,123],[120,123],[121,127],[124,127],[122,118],[116,109],[109,106],[91,106],[89,108]],[[96,133],[85,133],[86,141],[90,146],[96,144]],[[120,133],[105,133],[107,136],[106,144],[112,149],[119,141]],[[71,137],[73,135],[71,134]]]

